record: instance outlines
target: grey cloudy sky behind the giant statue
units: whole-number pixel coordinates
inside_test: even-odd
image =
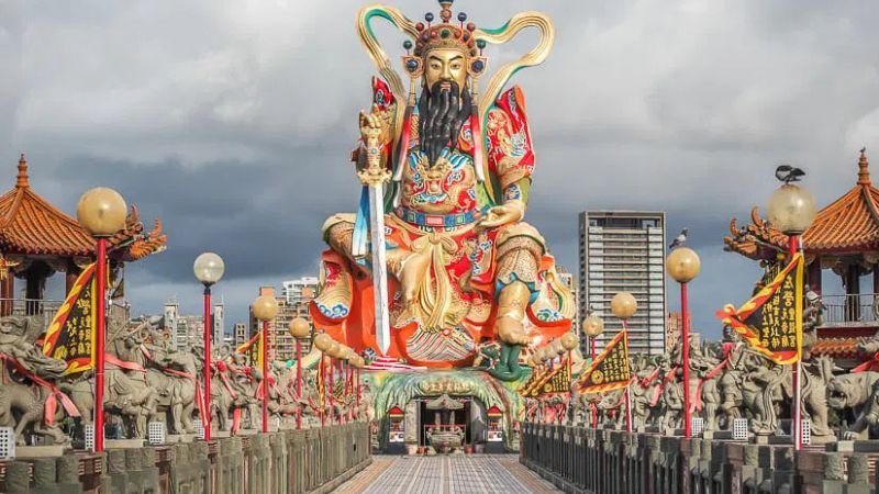
[[[514,82],[538,159],[527,221],[559,261],[576,271],[579,211],[666,211],[669,236],[689,227],[702,257],[694,326],[715,337],[713,313],[744,301],[758,276],[722,237],[730,217],[765,204],[775,167],[804,168],[823,206],[854,184],[861,146],[879,160],[872,3],[458,0],[455,10],[480,26],[527,9],[555,21],[553,54]],[[246,321],[257,287],[316,273],[323,220],[355,207],[347,157],[374,74],[354,30],[360,4],[0,0],[0,183],[14,184],[26,151],[32,186],[71,214],[88,188],[118,189],[169,237],[166,252],[129,268],[134,313],[158,313],[171,295],[198,312],[191,265],[213,250],[227,267],[215,289],[227,328]],[[410,18],[437,11],[398,5]],[[402,37],[377,31],[396,59]],[[520,37],[488,50],[489,69],[536,40]]]

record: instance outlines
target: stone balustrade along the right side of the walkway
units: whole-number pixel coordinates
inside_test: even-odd
[[[876,454],[523,424],[520,461],[577,494],[869,494]]]

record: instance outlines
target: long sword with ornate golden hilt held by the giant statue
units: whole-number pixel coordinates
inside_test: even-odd
[[[391,346],[388,315],[388,268],[385,252],[385,183],[391,173],[381,166],[379,132],[366,136],[366,167],[357,172],[360,183],[369,190],[369,240],[372,251],[372,297],[376,312],[376,341],[382,355]]]

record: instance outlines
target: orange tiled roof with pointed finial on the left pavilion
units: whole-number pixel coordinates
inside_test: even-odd
[[[94,239],[63,211],[34,192],[27,161],[19,160],[15,188],[0,197],[0,248],[8,254],[91,256]]]

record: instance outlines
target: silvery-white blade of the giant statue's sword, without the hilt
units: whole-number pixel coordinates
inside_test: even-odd
[[[376,343],[381,355],[391,346],[388,315],[388,267],[385,252],[385,195],[383,184],[369,186],[369,240],[372,251],[372,297],[376,312]]]

